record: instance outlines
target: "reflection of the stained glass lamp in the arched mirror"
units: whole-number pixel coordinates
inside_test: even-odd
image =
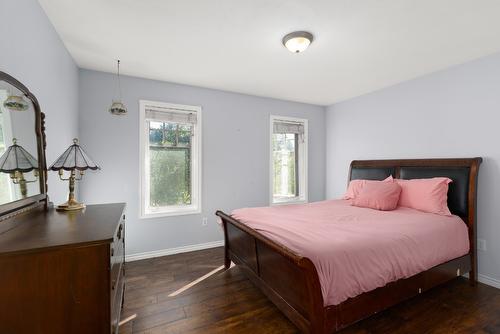
[[[26,184],[36,181],[24,178],[24,173],[31,171],[38,176],[38,161],[22,146],[17,145],[17,140],[14,138],[12,145],[0,157],[0,172],[10,174],[12,182],[19,184],[23,198],[28,195]]]

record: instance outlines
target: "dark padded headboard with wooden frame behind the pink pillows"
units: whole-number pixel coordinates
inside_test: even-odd
[[[470,213],[475,216],[477,175],[481,161],[481,158],[354,160],[349,180],[383,180],[389,175],[400,179],[448,177],[453,180],[448,190],[448,207],[451,213],[468,220]]]

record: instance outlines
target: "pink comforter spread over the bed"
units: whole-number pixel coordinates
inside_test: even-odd
[[[469,252],[467,227],[459,217],[404,207],[377,211],[330,200],[238,209],[232,216],[308,257],[325,306]]]

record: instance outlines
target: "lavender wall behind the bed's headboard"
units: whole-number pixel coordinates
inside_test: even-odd
[[[478,236],[483,281],[500,287],[500,55],[327,108],[327,197],[353,159],[482,156]]]

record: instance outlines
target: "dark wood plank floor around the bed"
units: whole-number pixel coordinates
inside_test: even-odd
[[[222,263],[222,248],[127,263],[122,319],[137,318],[121,333],[298,332],[238,267],[169,296]],[[500,333],[500,290],[457,279],[342,331],[354,333]]]

